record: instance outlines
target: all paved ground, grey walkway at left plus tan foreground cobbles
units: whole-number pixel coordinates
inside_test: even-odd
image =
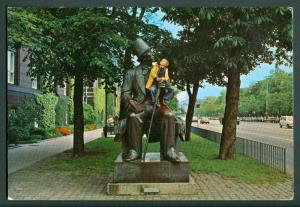
[[[86,132],[85,142],[101,134],[101,129]],[[72,144],[70,135],[9,150],[8,196],[14,200],[290,200],[294,196],[292,178],[256,185],[216,173],[191,173],[198,186],[194,195],[107,195],[112,174],[76,175],[41,168],[51,156],[72,148]]]

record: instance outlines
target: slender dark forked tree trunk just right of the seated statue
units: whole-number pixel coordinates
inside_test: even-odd
[[[187,84],[187,93],[189,95],[189,105],[186,113],[186,130],[185,130],[185,140],[190,141],[191,140],[191,128],[192,128],[192,121],[193,121],[193,114],[194,114],[194,108],[197,100],[197,94],[199,89],[199,82],[195,82],[193,84],[193,92],[191,92],[190,84]]]

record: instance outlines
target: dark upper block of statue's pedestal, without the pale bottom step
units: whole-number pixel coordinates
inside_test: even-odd
[[[189,161],[183,154],[180,160],[180,162],[160,160],[160,153],[147,153],[145,161],[125,162],[120,154],[115,160],[113,182],[189,182]]]

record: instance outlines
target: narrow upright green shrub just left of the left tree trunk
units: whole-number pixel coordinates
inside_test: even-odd
[[[59,97],[55,106],[55,125],[63,126],[66,124],[66,118],[68,113],[68,103],[65,98]]]

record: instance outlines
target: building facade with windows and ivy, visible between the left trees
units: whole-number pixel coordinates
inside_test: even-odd
[[[26,99],[31,99],[34,94],[42,92],[42,78],[30,77],[29,60],[26,59],[28,49],[7,50],[7,104],[8,110],[17,110]],[[84,86],[83,102],[94,107],[98,113],[98,121],[105,124],[107,117],[114,117],[119,114],[120,108],[120,89],[116,94],[105,93],[103,86],[96,80],[94,83]],[[73,80],[65,86],[56,86],[57,96],[69,100],[73,99]],[[107,103],[107,107],[105,104]]]

